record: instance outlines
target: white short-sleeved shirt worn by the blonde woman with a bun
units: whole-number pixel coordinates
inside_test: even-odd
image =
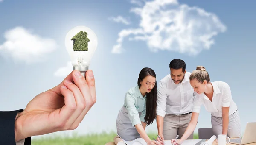
[[[215,117],[222,117],[222,107],[230,107],[229,115],[237,110],[236,103],[232,100],[231,90],[223,81],[212,82],[212,101],[204,94],[197,94],[193,101],[193,112],[200,112],[200,106],[204,104],[205,109]]]

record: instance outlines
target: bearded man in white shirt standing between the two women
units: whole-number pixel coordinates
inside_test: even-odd
[[[162,140],[182,137],[191,120],[194,97],[189,83],[191,73],[186,72],[185,62],[173,59],[169,67],[170,74],[161,79],[157,87],[157,129]],[[193,135],[188,139],[193,139]]]

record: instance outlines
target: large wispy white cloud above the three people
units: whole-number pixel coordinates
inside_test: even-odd
[[[169,50],[197,55],[210,49],[215,43],[213,36],[227,29],[215,14],[180,5],[177,0],[145,1],[144,6],[131,8],[130,12],[140,17],[139,27],[120,31],[112,53],[125,52],[122,42],[129,36],[130,41],[145,41],[153,52]]]

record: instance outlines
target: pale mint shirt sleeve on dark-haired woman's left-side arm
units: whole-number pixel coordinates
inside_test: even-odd
[[[131,124],[135,126],[136,124],[141,124],[139,112],[136,110],[135,107],[135,98],[131,95],[130,92],[126,92],[125,94],[125,108],[128,112],[128,117],[131,120]]]

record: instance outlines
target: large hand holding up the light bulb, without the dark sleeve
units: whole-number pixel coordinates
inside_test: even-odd
[[[86,80],[73,70],[58,86],[35,96],[15,120],[16,142],[56,131],[74,130],[96,102],[93,71]]]

